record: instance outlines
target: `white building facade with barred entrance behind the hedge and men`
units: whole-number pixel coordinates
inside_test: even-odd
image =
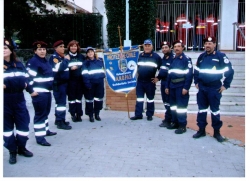
[[[93,12],[103,16],[103,41],[107,48],[108,20],[104,2],[93,0]],[[161,41],[175,39],[183,40],[186,50],[202,50],[205,36],[215,36],[220,50],[245,49],[242,36],[245,34],[245,0],[158,0],[157,16],[156,50]]]

